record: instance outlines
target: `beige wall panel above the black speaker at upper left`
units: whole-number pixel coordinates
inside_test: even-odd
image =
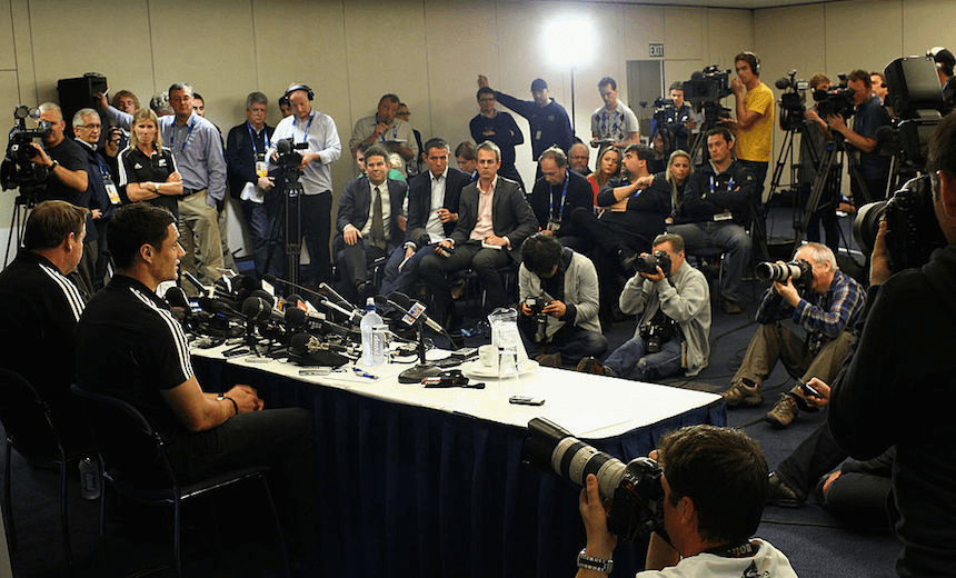
[[[76,9],[77,4],[60,0],[31,0],[29,6],[40,100],[57,100],[61,78],[99,72],[112,90],[132,90],[140,103],[149,102],[153,72],[145,1],[104,0],[96,10]],[[111,26],[103,14],[121,24]],[[88,32],[106,27],[108,33]]]

